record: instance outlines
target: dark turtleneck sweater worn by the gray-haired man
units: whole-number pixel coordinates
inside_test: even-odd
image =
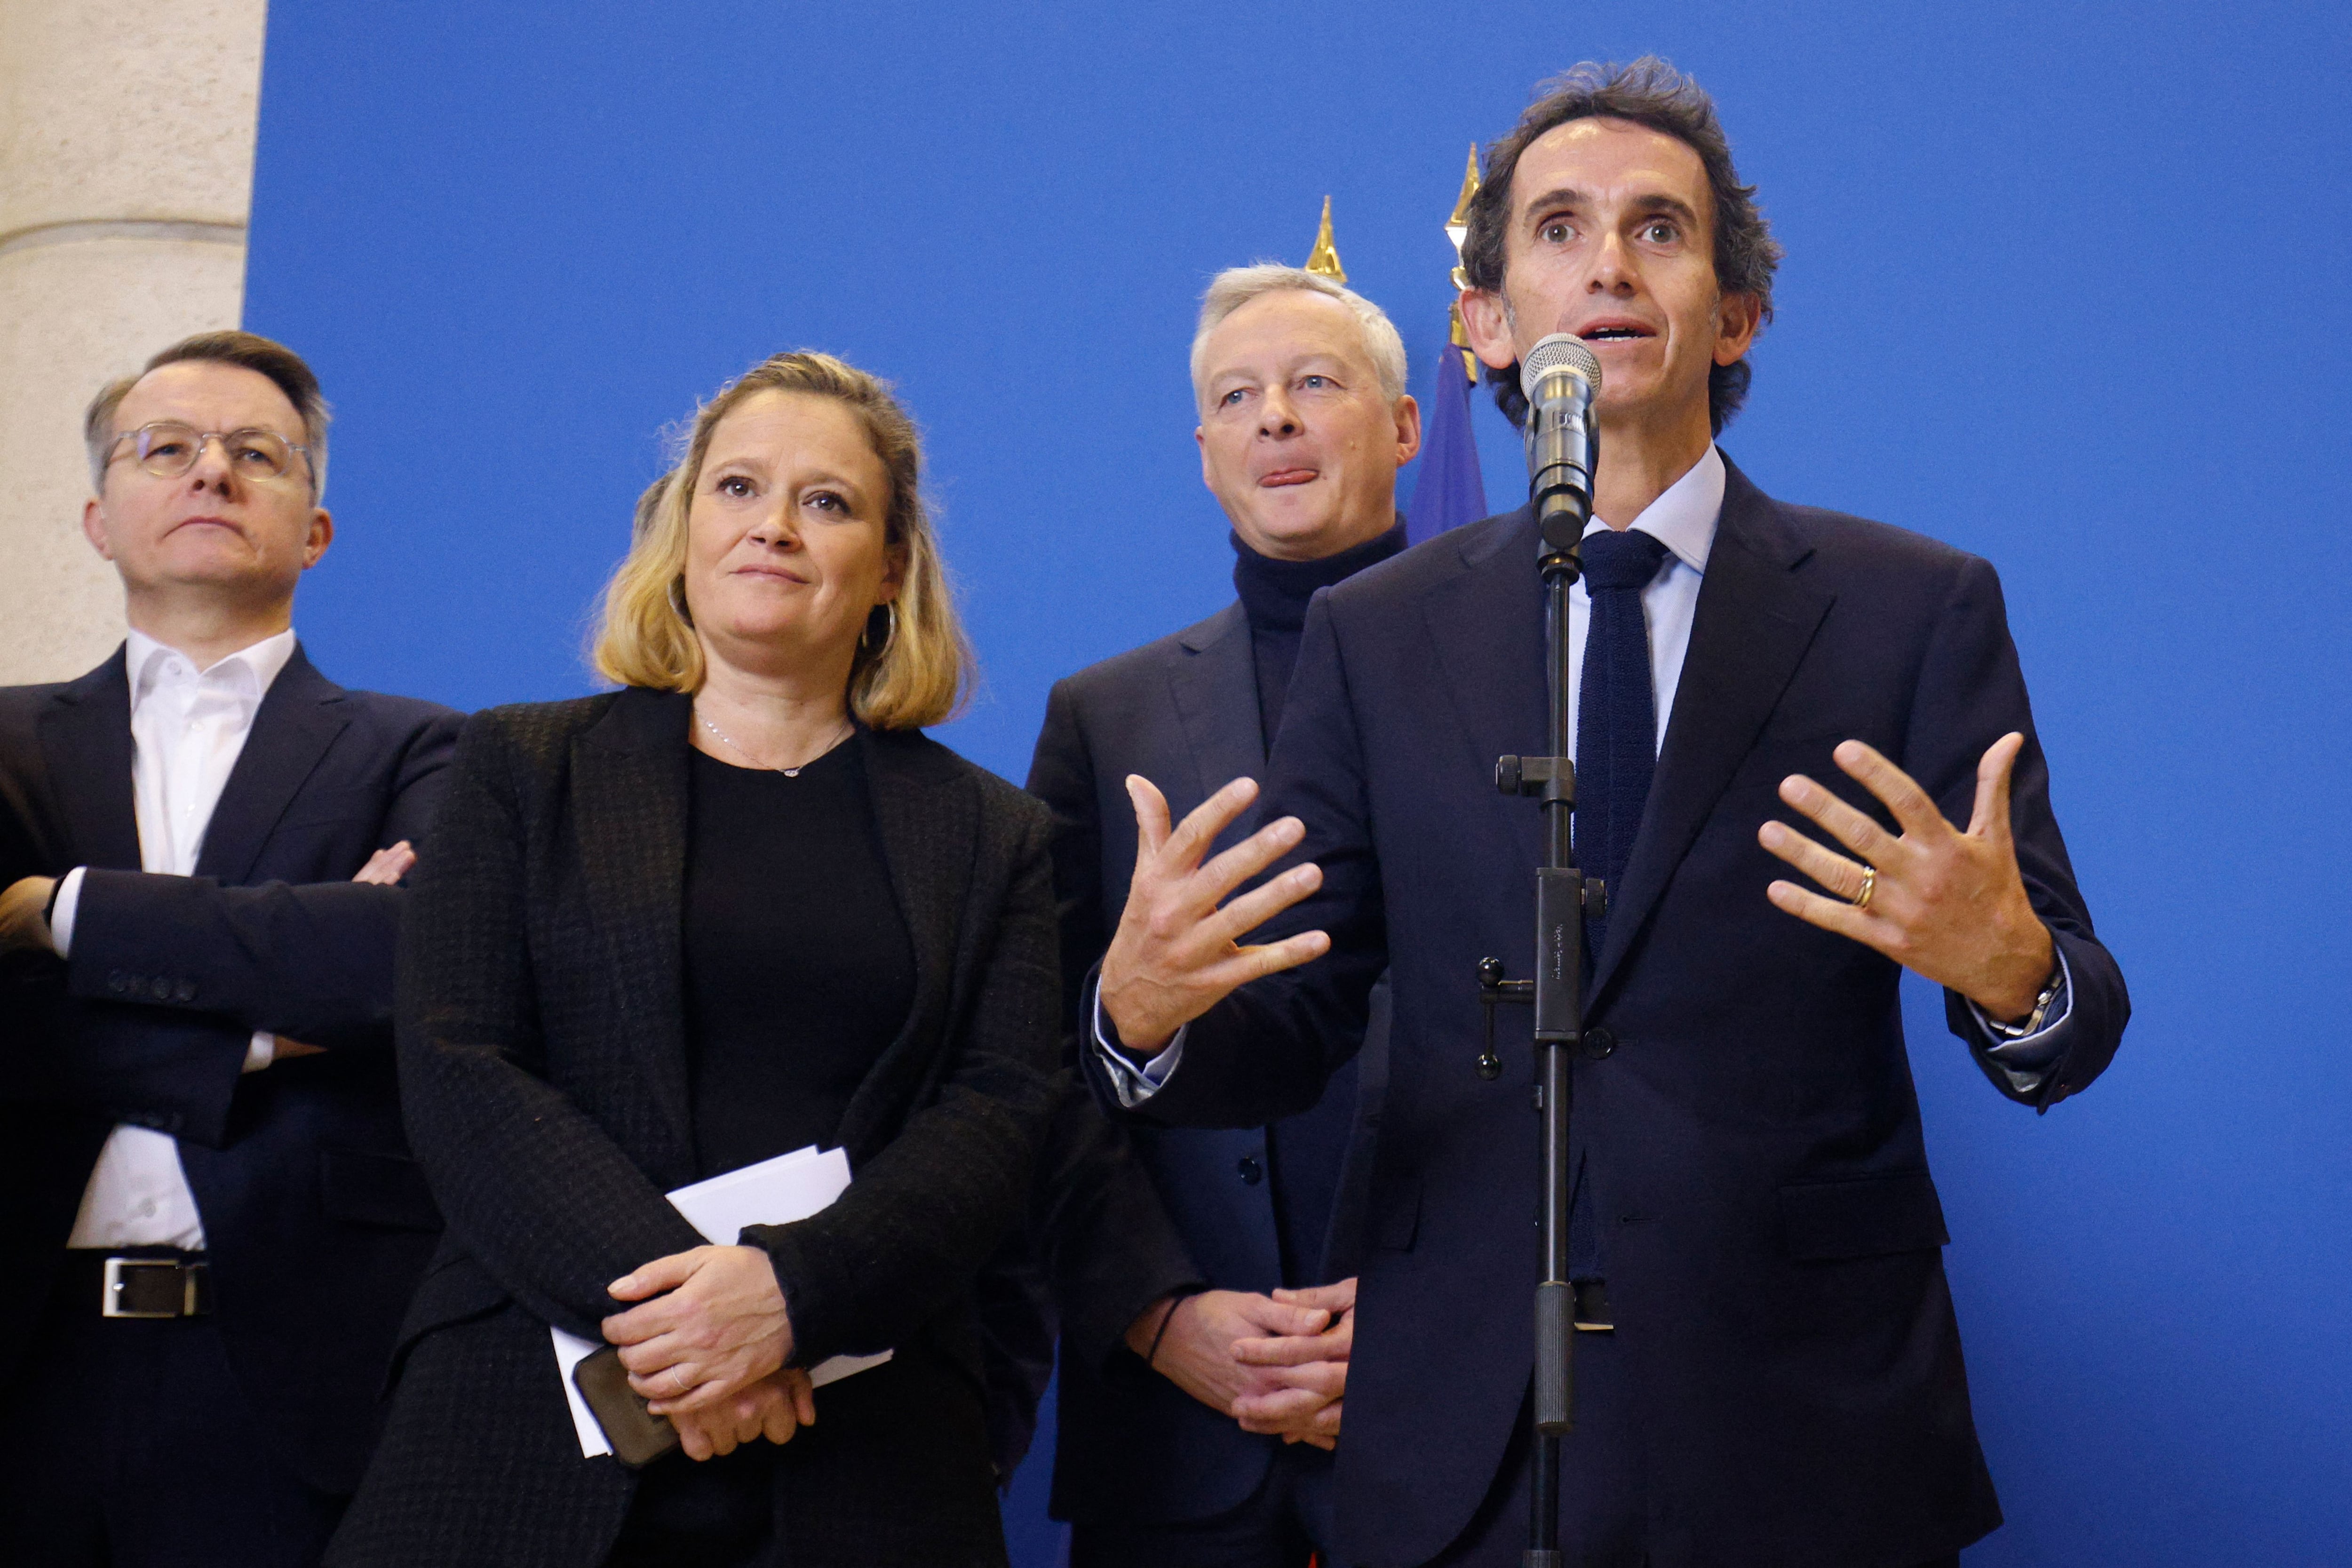
[[[1343,583],[1364,567],[1404,548],[1404,517],[1378,538],[1319,562],[1277,562],[1232,538],[1232,585],[1249,616],[1249,646],[1258,663],[1258,726],[1272,750],[1282,726],[1282,701],[1298,663],[1298,632],[1308,623],[1308,599],[1317,588]],[[1348,1074],[1345,1081],[1355,1081]],[[1355,1128],[1355,1095],[1329,1093],[1324,1103],[1265,1128],[1265,1161],[1275,1178],[1275,1237],[1282,1246],[1282,1279],[1289,1286],[1329,1284],[1322,1272],[1324,1234],[1338,1199],[1338,1166]]]

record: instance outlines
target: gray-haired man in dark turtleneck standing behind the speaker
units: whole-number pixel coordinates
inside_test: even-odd
[[[1421,449],[1421,411],[1378,306],[1298,268],[1221,273],[1192,390],[1240,599],[1058,682],[1030,766],[1056,816],[1073,1006],[1134,875],[1127,778],[1167,788],[1176,816],[1228,778],[1263,778],[1308,599],[1404,548],[1397,468]],[[1298,1568],[1329,1549],[1371,1098],[1350,1065],[1312,1112],[1263,1128],[1115,1128],[1080,1107],[1096,1159],[1065,1171],[1124,1192],[1063,1194],[1047,1225],[1063,1321],[1054,1516],[1073,1521],[1073,1568]]]

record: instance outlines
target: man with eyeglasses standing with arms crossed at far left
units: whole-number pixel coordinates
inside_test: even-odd
[[[459,715],[294,639],[299,355],[186,339],[85,437],[129,639],[0,689],[0,1561],[315,1563],[440,1229],[393,940]]]

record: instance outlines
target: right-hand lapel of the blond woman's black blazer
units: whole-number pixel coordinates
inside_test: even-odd
[[[875,1133],[896,1124],[927,1065],[927,1041],[938,1037],[938,1020],[957,1004],[957,933],[971,896],[981,799],[948,752],[920,733],[858,729],[854,745],[866,766],[891,898],[915,950],[915,1004],[842,1112],[842,1147],[863,1159]]]

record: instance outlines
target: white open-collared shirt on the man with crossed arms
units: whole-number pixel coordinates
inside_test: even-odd
[[[240,649],[209,670],[143,632],[125,649],[132,682],[132,802],[139,811],[139,870],[193,877],[195,858],[212,827],[228,771],[238,766],[245,738],[270,682],[294,658],[294,632],[285,630]],[[59,957],[73,952],[73,919],[82,900],[82,870],[73,867],[56,889],[49,936]],[[245,1070],[275,1058],[278,1041],[254,1034]],[[146,1126],[118,1126],[99,1152],[82,1187],[66,1246],[179,1246],[200,1251],[205,1222],[195,1194],[179,1168],[179,1143]]]

